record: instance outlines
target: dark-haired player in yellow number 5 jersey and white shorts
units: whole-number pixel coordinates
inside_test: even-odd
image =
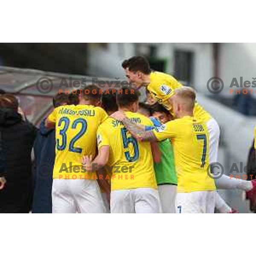
[[[124,111],[134,122],[152,126],[150,119],[136,113],[138,91],[123,88],[122,92],[116,96],[119,111]],[[112,169],[111,213],[160,213],[150,143],[137,141],[122,122],[113,118],[99,126],[97,140],[98,156],[92,163],[90,157],[84,157],[83,163],[86,163],[86,169],[93,165],[107,165],[107,169]],[[119,167],[118,172],[116,166]]]

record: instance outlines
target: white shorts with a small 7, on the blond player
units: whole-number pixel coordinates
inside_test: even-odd
[[[215,191],[177,193],[178,213],[214,213]]]

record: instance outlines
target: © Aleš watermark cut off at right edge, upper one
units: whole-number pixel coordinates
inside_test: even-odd
[[[239,78],[233,77],[228,83],[230,94],[253,94],[256,93],[256,77],[251,80],[245,80],[242,76]],[[224,88],[224,82],[220,77],[211,77],[207,81],[207,89],[210,93],[218,94]],[[253,89],[254,88],[254,89]]]

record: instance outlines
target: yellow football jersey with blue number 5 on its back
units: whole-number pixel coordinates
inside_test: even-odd
[[[138,124],[153,126],[151,120],[140,113],[125,114]],[[99,126],[97,143],[98,148],[105,145],[110,147],[109,160],[105,168],[111,172],[111,190],[157,189],[149,142],[137,141],[122,122],[109,117]]]

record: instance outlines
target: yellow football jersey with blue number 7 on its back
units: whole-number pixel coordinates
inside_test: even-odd
[[[178,192],[215,190],[215,182],[207,174],[209,134],[204,122],[185,116],[155,128],[154,134],[157,140],[172,140]]]

